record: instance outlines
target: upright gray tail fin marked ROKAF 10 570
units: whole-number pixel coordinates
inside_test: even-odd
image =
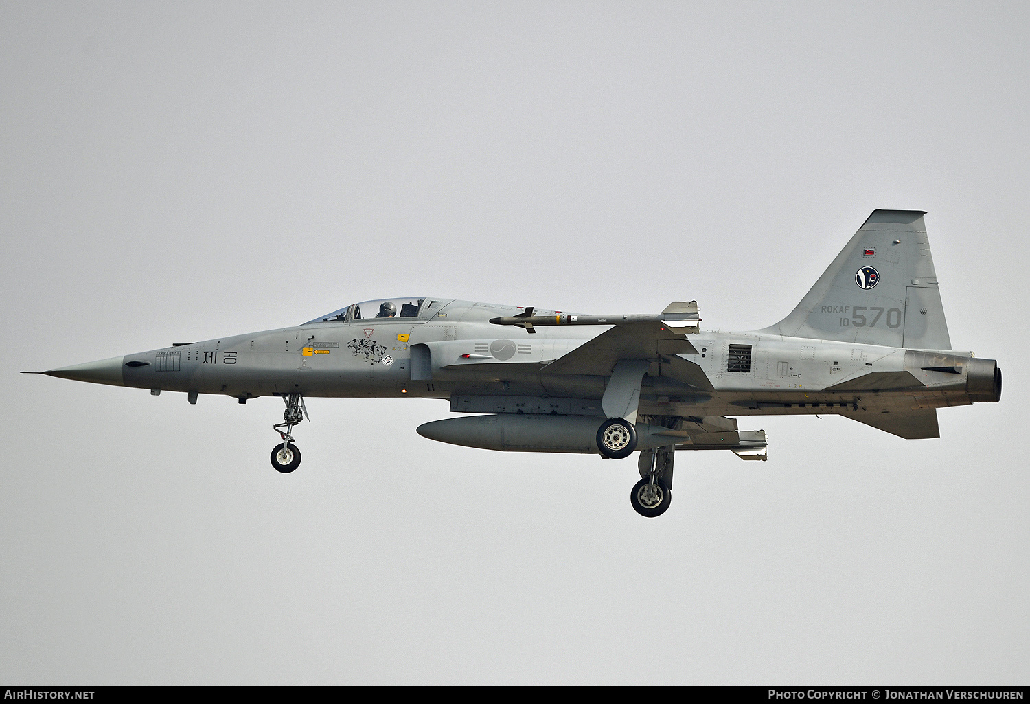
[[[760,332],[951,349],[922,210],[873,210],[797,307]]]

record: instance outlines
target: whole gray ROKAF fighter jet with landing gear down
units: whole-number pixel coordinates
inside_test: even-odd
[[[585,315],[390,298],[299,326],[174,344],[46,372],[118,387],[278,396],[293,472],[306,396],[447,399],[470,413],[420,426],[433,440],[486,449],[640,450],[630,492],[642,515],[672,500],[676,450],[765,460],[764,431],[730,415],[834,413],[903,438],[939,437],[936,409],[997,402],[994,360],[953,351],[924,212],[876,210],[794,310],[752,332],[702,330],[693,301],[656,314]]]

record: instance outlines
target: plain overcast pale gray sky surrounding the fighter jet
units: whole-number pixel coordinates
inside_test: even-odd
[[[0,3],[0,680],[1026,683],[1030,5]],[[1000,404],[769,460],[415,433],[442,401],[19,375],[436,295],[783,317],[927,210]]]

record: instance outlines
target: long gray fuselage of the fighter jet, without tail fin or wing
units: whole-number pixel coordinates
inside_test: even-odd
[[[432,300],[436,305],[417,316],[317,321],[127,355],[122,383],[241,400],[414,396],[449,399],[452,410],[466,412],[603,414],[608,377],[549,373],[547,366],[611,326],[528,334],[489,323],[517,313],[516,306]],[[668,365],[675,360],[659,357],[641,389],[641,413],[883,412],[996,401],[1000,394],[994,362],[971,353],[757,332],[689,337],[698,354],[680,357],[700,367],[712,388],[676,378]]]

